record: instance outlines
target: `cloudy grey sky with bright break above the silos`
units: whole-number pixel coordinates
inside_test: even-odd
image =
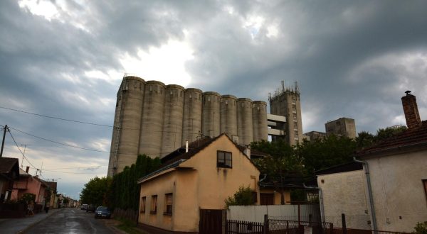
[[[305,133],[341,117],[357,132],[405,125],[406,90],[426,120],[426,9],[386,0],[0,1],[3,156],[21,164],[25,150],[23,168],[78,199],[107,174],[124,74],[254,101],[298,82]]]

